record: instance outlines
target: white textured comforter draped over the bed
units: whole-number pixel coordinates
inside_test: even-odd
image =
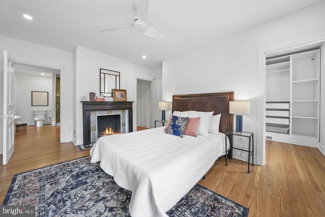
[[[224,139],[223,133],[180,138],[159,127],[101,137],[90,156],[119,186],[132,191],[133,217],[167,216],[225,154]]]

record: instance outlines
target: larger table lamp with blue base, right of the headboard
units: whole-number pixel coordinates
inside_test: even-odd
[[[229,101],[229,113],[236,114],[236,131],[243,132],[243,115],[250,114],[250,101]]]

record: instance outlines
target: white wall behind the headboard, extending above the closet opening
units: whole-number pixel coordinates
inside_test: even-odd
[[[233,90],[235,100],[250,100],[251,114],[244,115],[243,128],[245,131],[254,132],[254,156],[256,156],[254,162],[262,165],[265,142],[263,124],[265,79],[259,80],[261,73],[264,73],[264,67],[258,65],[257,51],[265,47],[269,47],[266,51],[271,51],[272,46],[278,43],[285,48],[291,46],[296,38],[302,43],[305,35],[324,31],[324,10],[325,2],[322,2],[219,39],[206,47],[164,60],[163,100],[171,101],[173,94],[224,90]],[[318,39],[317,37],[314,40]],[[252,91],[252,98],[248,97],[247,91]],[[324,95],[321,100],[325,100]],[[324,113],[320,116],[324,117]],[[320,121],[323,122],[324,118]],[[235,152],[234,156],[239,158]]]

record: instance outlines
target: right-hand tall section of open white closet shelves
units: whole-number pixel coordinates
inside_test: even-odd
[[[319,50],[292,56],[291,134],[317,139],[319,137]]]

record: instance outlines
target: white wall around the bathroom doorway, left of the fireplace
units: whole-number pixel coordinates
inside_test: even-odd
[[[15,62],[58,69],[61,71],[60,137],[61,142],[72,141],[74,117],[73,53],[0,35],[0,52],[3,53],[3,50],[7,50]],[[3,106],[3,100],[1,100],[0,106]],[[2,131],[2,128],[0,128],[0,130]]]

